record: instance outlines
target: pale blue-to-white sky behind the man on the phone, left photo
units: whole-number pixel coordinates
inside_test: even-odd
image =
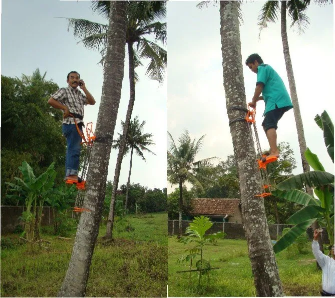
[[[85,107],[84,121],[96,126],[103,84],[103,71],[97,63],[99,51],[86,49],[73,31],[68,31],[67,20],[59,17],[85,18],[108,24],[98,14],[93,14],[91,1],[59,0],[2,0],[1,22],[1,73],[10,77],[31,75],[38,67],[46,79],[52,79],[59,87],[67,86],[67,74],[77,70],[87,89],[96,99],[95,105]],[[165,20],[164,20],[165,21]],[[153,134],[150,146],[156,155],[144,153],[146,162],[133,156],[131,183],[140,183],[149,188],[167,187],[166,176],[166,79],[162,85],[146,78],[146,61],[137,72],[136,98],[132,118],[138,115],[140,122],[146,121],[144,133]],[[126,52],[125,72],[114,138],[121,131],[121,119],[125,119],[129,101],[128,58]],[[50,94],[52,95],[52,94]],[[114,178],[117,150],[112,150],[108,180]],[[127,183],[130,153],[123,158],[119,185]]]

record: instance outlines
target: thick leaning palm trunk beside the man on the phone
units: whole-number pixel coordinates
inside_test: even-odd
[[[121,98],[127,29],[126,1],[111,1],[104,82],[96,135],[113,137]],[[87,175],[83,207],[72,255],[58,293],[63,297],[85,296],[94,246],[106,191],[111,142],[94,143]]]

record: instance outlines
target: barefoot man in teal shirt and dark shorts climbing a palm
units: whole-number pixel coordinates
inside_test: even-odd
[[[255,92],[252,101],[248,104],[251,107],[256,107],[258,100],[264,100],[265,110],[263,115],[265,117],[262,126],[270,145],[268,157],[279,157],[277,124],[284,112],[293,107],[292,101],[279,74],[270,65],[264,64],[258,54],[251,54],[246,59],[245,64],[257,74]],[[261,93],[263,96],[260,96]]]

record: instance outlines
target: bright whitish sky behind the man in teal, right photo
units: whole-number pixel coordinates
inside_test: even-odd
[[[167,126],[176,142],[185,129],[191,138],[199,139],[206,135],[197,160],[211,156],[225,160],[228,154],[233,154],[233,146],[223,88],[219,6],[211,5],[199,10],[197,3],[199,1],[169,1],[167,5]],[[257,17],[263,4],[264,1],[247,1],[241,6],[242,62],[251,53],[258,53],[264,63],[278,72],[289,90],[280,21],[269,24],[262,30],[260,39],[258,37]],[[317,154],[327,171],[333,172],[322,131],[313,120],[323,110],[332,120],[335,119],[333,5],[319,7],[311,4],[306,14],[310,24],[304,33],[298,34],[296,29],[288,27],[289,50],[307,147]],[[243,64],[243,76],[246,102],[250,102],[256,74]],[[261,129],[263,111],[264,103],[257,103],[258,136],[261,148],[268,149],[265,133]],[[297,162],[293,173],[302,172],[293,110],[286,112],[279,121],[277,139],[278,142],[288,142],[293,149]],[[168,186],[170,191],[171,184]]]

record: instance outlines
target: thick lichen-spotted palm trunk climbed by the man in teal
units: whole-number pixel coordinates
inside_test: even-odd
[[[243,111],[231,110],[230,107],[246,108],[238,5],[238,1],[220,1],[223,85],[230,121],[245,116]],[[283,296],[265,215],[264,199],[254,196],[262,193],[262,182],[247,122],[231,123],[230,133],[239,172],[243,226],[257,296]]]

